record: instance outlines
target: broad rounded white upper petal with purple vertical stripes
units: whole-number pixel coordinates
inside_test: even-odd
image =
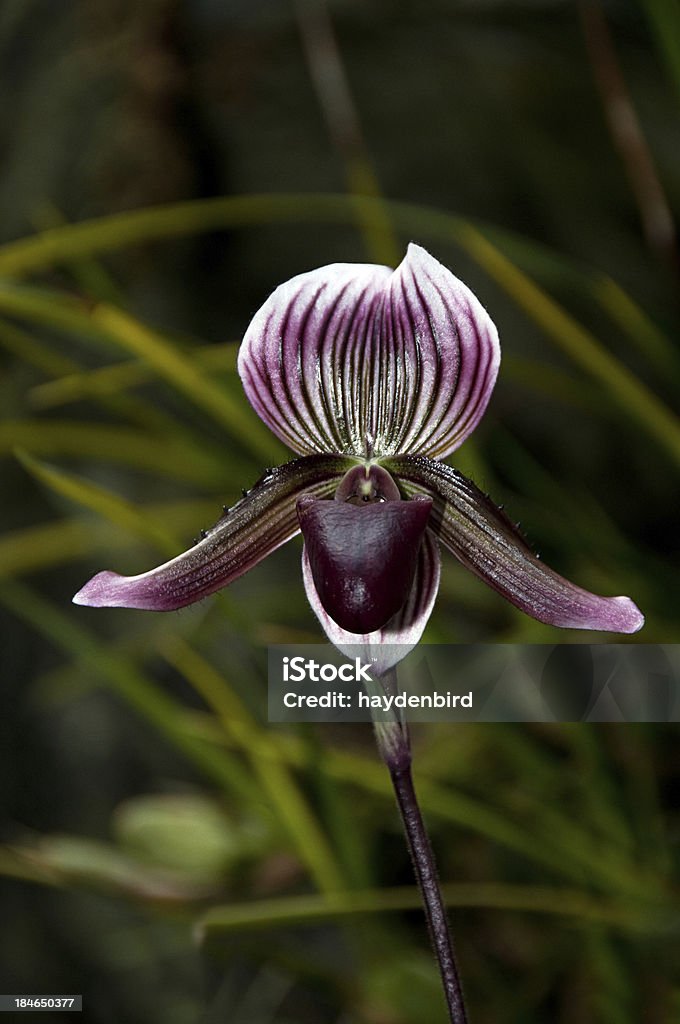
[[[239,353],[254,409],[301,454],[443,458],[479,422],[500,362],[472,292],[419,246],[388,267],[300,274],[255,314]]]

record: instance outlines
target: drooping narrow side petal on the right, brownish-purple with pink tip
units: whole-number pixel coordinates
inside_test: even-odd
[[[629,597],[599,597],[545,565],[504,512],[457,470],[420,456],[386,460],[409,497],[430,495],[441,544],[526,614],[551,626],[636,633],[644,616]]]

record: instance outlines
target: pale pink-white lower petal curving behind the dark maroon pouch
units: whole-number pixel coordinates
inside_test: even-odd
[[[314,586],[306,547],[302,552],[302,579],[307,600],[327,637],[347,657],[360,657],[371,664],[376,676],[382,676],[413,650],[432,613],[439,590],[441,559],[439,546],[427,530],[418,553],[416,577],[403,607],[382,629],[373,633],[349,633],[329,615]]]

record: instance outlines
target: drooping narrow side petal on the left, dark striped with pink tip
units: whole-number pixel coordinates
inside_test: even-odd
[[[342,456],[310,456],[267,471],[188,551],[140,575],[99,572],[74,597],[91,607],[172,611],[194,604],[257,565],[299,532],[296,499],[327,498],[352,466]]]

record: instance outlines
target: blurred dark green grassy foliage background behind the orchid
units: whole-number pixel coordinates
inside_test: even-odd
[[[299,544],[181,614],[70,604],[286,458],[236,374],[280,281],[413,238],[468,282],[504,362],[456,465],[636,600],[630,642],[678,640],[677,249],[598,78],[613,54],[677,209],[676,8],[325,11],[0,10],[0,988],[97,1024],[443,1014],[369,731],[264,720],[266,644],[320,639]],[[428,639],[597,638],[444,559]],[[475,1024],[680,1019],[677,752],[664,725],[417,732]]]

